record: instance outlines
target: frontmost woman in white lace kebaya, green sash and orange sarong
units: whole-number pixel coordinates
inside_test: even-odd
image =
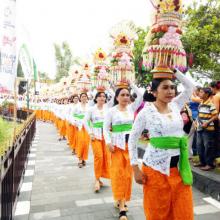
[[[151,90],[155,101],[138,114],[129,138],[134,177],[143,184],[147,220],[193,219],[192,173],[180,111],[190,100],[194,85],[179,71],[175,76],[185,90],[175,97],[172,80],[154,79]],[[150,143],[141,171],[137,143],[144,129],[149,131]]]

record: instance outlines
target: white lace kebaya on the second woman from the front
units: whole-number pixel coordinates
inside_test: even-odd
[[[137,98],[135,99],[134,103],[130,104],[127,107],[126,111],[120,111],[118,109],[118,105],[109,109],[108,114],[105,117],[103,126],[103,134],[106,144],[111,143],[113,146],[117,146],[118,148],[123,150],[125,150],[126,147],[125,136],[126,134],[130,134],[130,131],[114,133],[111,132],[110,129],[114,125],[133,124],[134,112],[140,106],[143,100],[143,94],[139,91],[139,89],[136,86],[132,85],[131,88],[137,94]]]

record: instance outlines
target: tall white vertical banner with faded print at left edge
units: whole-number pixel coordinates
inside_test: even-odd
[[[16,67],[16,0],[0,3],[0,88],[12,91]]]

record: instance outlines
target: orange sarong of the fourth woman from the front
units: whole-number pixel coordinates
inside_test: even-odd
[[[87,160],[89,154],[90,137],[84,127],[77,131],[76,136],[76,154],[81,160]]]

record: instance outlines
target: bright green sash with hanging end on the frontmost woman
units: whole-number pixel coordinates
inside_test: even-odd
[[[154,137],[150,138],[150,144],[160,149],[180,149],[179,171],[185,185],[192,185],[193,176],[188,160],[187,137]]]

